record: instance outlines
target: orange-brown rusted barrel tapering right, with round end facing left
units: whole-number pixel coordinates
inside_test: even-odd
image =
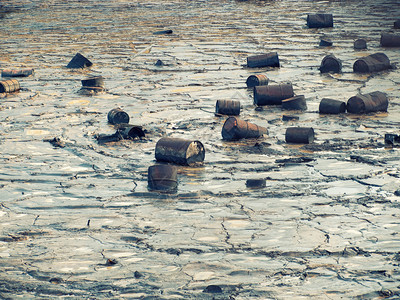
[[[235,141],[247,138],[259,138],[267,134],[265,127],[243,121],[238,117],[229,117],[222,127],[222,138],[226,141]]]

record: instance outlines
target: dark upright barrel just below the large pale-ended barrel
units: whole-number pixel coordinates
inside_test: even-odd
[[[177,168],[171,165],[150,166],[147,183],[149,190],[175,191],[178,187]]]

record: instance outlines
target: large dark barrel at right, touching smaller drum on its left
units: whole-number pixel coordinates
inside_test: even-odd
[[[352,114],[365,114],[387,111],[389,102],[385,93],[375,91],[365,95],[358,94],[347,101],[347,111]]]

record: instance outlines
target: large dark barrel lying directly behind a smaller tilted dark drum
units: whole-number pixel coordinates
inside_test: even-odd
[[[254,104],[281,105],[282,100],[294,96],[291,83],[255,86],[253,91]]]

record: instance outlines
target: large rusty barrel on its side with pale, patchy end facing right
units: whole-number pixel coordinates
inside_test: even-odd
[[[164,137],[156,144],[155,157],[158,161],[196,166],[203,164],[205,149],[200,141]]]

